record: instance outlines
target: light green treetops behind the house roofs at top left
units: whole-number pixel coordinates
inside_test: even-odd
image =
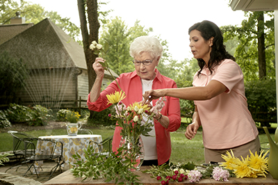
[[[10,24],[10,19],[15,17],[15,13],[21,13],[21,17],[25,17],[26,23],[37,24],[45,18],[49,18],[51,22],[54,22],[65,33],[70,35],[74,40],[78,40],[80,29],[78,26],[70,22],[70,18],[63,18],[58,15],[57,12],[49,12],[44,10],[39,4],[30,4],[21,0],[20,3],[13,0],[0,0],[0,24]]]

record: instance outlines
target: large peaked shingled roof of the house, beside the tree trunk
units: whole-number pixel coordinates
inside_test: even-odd
[[[79,67],[86,70],[83,47],[49,19],[35,24],[0,45],[31,69]]]

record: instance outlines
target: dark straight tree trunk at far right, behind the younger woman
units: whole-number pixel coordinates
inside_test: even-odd
[[[263,12],[259,13],[258,20],[258,59],[259,59],[259,79],[266,77],[265,67],[265,33]]]

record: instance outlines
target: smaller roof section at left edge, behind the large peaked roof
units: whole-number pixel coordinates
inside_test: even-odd
[[[3,42],[6,42],[10,38],[15,37],[15,35],[18,35],[19,33],[22,33],[22,31],[25,31],[26,29],[33,26],[33,23],[29,24],[4,24],[0,25],[0,45],[3,44]]]

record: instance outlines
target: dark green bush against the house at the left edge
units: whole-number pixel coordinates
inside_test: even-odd
[[[22,64],[22,60],[11,58],[8,52],[0,54],[0,104],[7,104],[7,97],[15,99],[17,92],[24,87],[24,81],[28,77],[28,70]]]

